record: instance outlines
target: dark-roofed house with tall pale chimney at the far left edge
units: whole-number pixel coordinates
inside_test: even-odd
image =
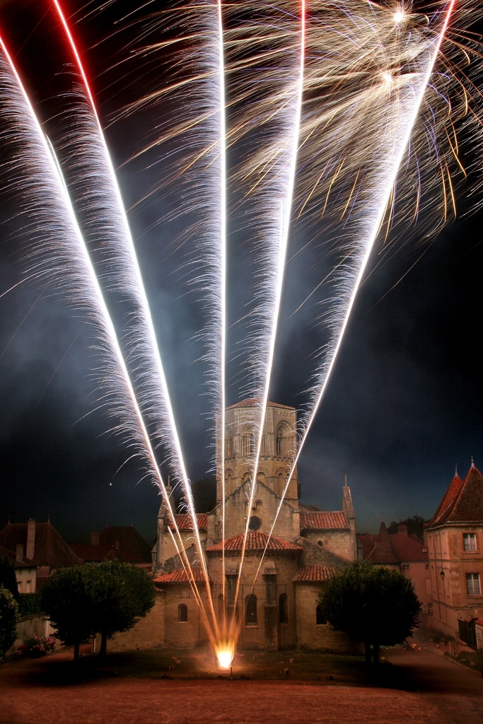
[[[58,568],[82,563],[50,523],[7,523],[0,531],[0,546],[14,557],[20,593],[35,593]]]

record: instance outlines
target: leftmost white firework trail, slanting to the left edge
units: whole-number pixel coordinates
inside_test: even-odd
[[[30,195],[28,193],[29,191],[38,195],[38,193],[40,193],[39,189],[44,188],[46,198],[50,200],[50,209],[54,211],[57,219],[56,222],[52,222],[50,218],[48,220],[43,219],[43,223],[46,224],[49,232],[55,230],[62,235],[62,251],[60,247],[56,248],[55,251],[51,251],[45,261],[38,262],[37,267],[42,268],[48,264],[49,274],[52,273],[53,269],[56,269],[56,274],[62,274],[64,278],[69,277],[70,303],[75,304],[78,308],[83,308],[88,316],[91,317],[96,328],[101,332],[100,336],[98,335],[97,337],[98,345],[102,350],[104,363],[106,363],[107,369],[110,370],[109,376],[106,373],[101,376],[101,382],[107,390],[107,392],[104,393],[104,401],[102,399],[100,400],[101,406],[107,406],[110,413],[117,413],[120,416],[121,423],[117,428],[117,432],[125,434],[130,441],[129,447],[135,446],[137,448],[135,456],[142,457],[145,460],[151,475],[157,479],[177,534],[177,540],[172,536],[176,550],[178,555],[180,555],[182,566],[187,572],[193,594],[202,607],[201,594],[198,591],[196,583],[194,583],[190,563],[182,545],[182,536],[175,521],[175,513],[174,510],[172,510],[167,489],[164,486],[164,481],[156,464],[154,450],[151,446],[148,431],[146,430],[143,416],[130,382],[130,376],[122,356],[122,350],[117,341],[114,324],[106,307],[101,287],[98,284],[96,273],[93,269],[87,248],[85,247],[77,219],[75,218],[72,203],[67,194],[67,185],[62,177],[59,163],[54,156],[54,151],[43,134],[30,98],[28,98],[20,75],[12,62],[7,46],[1,36],[0,46],[8,64],[5,67],[5,72],[2,72],[4,76],[2,80],[4,87],[7,88],[7,94],[12,106],[9,114],[16,120],[16,123],[13,125],[18,127],[17,135],[19,137],[22,135],[24,142],[25,139],[28,138],[28,155],[30,160],[29,180],[32,186],[23,188],[22,190],[28,197]],[[7,69],[11,74],[9,76],[7,75]],[[14,83],[10,80],[12,77],[14,78]],[[30,123],[28,119],[30,119]],[[37,174],[32,173],[34,166],[37,167]],[[32,176],[35,176],[35,178],[32,179]],[[27,183],[29,183],[29,181]],[[37,204],[35,204],[35,206],[37,206]],[[62,209],[64,209],[66,213],[59,219]],[[43,274],[39,268],[36,269],[35,273]],[[64,284],[67,284],[67,281],[64,281]],[[72,301],[72,288],[76,290],[74,295],[75,301]],[[127,395],[126,398],[125,395]]]

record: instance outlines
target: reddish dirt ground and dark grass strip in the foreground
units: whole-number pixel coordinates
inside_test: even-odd
[[[264,680],[264,669],[254,674],[248,660],[235,660],[231,675],[199,668],[195,678],[175,657],[180,666],[172,671],[156,670],[141,653],[108,657],[102,668],[85,656],[76,669],[72,652],[61,652],[0,666],[0,723],[483,724],[478,673],[424,647],[383,654],[376,678],[360,662],[337,668],[333,659],[305,654],[298,661],[294,652],[275,657]],[[312,680],[301,674],[307,661]],[[247,670],[257,678],[245,678]]]

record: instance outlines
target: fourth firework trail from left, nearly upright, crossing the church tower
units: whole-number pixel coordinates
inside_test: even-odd
[[[238,570],[237,586],[235,592],[235,601],[238,599],[238,592],[240,589],[240,581],[243,570],[243,560],[245,557],[246,543],[248,539],[248,526],[250,523],[250,510],[253,507],[253,499],[256,491],[256,476],[259,467],[259,459],[261,454],[261,445],[264,435],[264,423],[266,416],[266,403],[269,395],[269,385],[272,377],[272,366],[274,359],[275,340],[277,337],[277,326],[280,315],[280,303],[282,300],[282,282],[283,282],[283,271],[285,266],[285,259],[287,256],[287,244],[288,244],[288,232],[290,229],[290,215],[292,212],[292,202],[295,187],[295,170],[297,168],[297,151],[299,144],[299,136],[301,130],[301,113],[302,113],[302,96],[303,96],[303,80],[304,80],[304,69],[305,69],[305,42],[306,42],[306,4],[305,0],[301,0],[300,6],[300,59],[299,59],[299,70],[298,80],[295,86],[295,102],[294,109],[290,109],[293,113],[293,119],[291,122],[290,130],[287,130],[289,135],[287,140],[287,155],[288,161],[280,161],[281,165],[287,166],[287,177],[285,179],[285,195],[281,202],[280,209],[280,222],[277,224],[273,237],[269,240],[270,248],[273,248],[274,259],[273,264],[273,277],[272,277],[272,288],[269,289],[269,301],[272,299],[270,304],[270,311],[272,315],[271,325],[266,335],[268,345],[266,345],[266,351],[263,356],[266,358],[266,369],[264,374],[264,387],[262,388],[260,395],[260,412],[258,421],[258,434],[256,442],[256,452],[253,457],[252,466],[252,477],[251,477],[251,488],[248,499],[248,513],[245,523],[245,533],[243,535],[243,544],[240,552],[240,567]],[[278,238],[277,238],[278,236]],[[235,618],[232,621],[232,627],[236,626]]]

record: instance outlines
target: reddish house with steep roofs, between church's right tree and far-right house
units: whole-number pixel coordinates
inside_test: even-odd
[[[427,547],[419,536],[408,534],[408,526],[401,523],[397,533],[388,533],[384,521],[377,535],[358,534],[363,560],[384,565],[403,573],[413,584],[421,602],[423,621],[432,610],[431,578]]]

